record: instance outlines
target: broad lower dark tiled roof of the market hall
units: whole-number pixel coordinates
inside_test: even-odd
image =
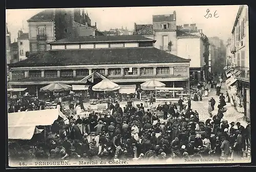
[[[190,61],[154,47],[49,50],[11,66],[53,66]]]

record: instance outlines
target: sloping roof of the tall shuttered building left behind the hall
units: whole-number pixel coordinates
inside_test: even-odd
[[[27,22],[51,21],[54,19],[54,9],[41,11],[27,20]]]

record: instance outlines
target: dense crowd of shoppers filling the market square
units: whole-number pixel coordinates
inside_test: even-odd
[[[206,121],[200,121],[200,114],[191,109],[190,99],[187,106],[183,106],[180,99],[177,104],[164,102],[147,110],[143,103],[134,107],[132,101],[127,101],[122,108],[117,101],[108,102],[106,112],[89,111],[81,101],[70,103],[67,117],[58,118],[47,130],[46,142],[34,141],[20,147],[10,142],[9,156],[20,159],[114,161],[207,157],[241,159],[243,151],[250,145],[250,123],[244,127],[240,122],[225,120],[225,97],[218,90],[217,95],[220,95],[218,113],[212,114],[216,100],[211,98],[209,119]],[[12,104],[8,112],[44,107],[40,102],[37,105],[29,101],[27,105],[19,103]],[[57,104],[63,111],[61,102]],[[160,120],[161,113],[164,121]]]

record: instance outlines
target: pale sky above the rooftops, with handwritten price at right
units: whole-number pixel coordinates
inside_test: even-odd
[[[231,37],[231,30],[239,9],[238,5],[225,6],[175,6],[175,7],[115,7],[115,8],[84,8],[97,23],[100,31],[127,28],[134,29],[136,24],[152,24],[152,15],[173,14],[176,11],[177,25],[196,24],[207,37],[218,36],[224,42]],[[207,14],[208,9],[208,15]],[[8,9],[6,22],[11,41],[17,40],[17,32],[22,29],[28,32],[27,19],[44,9]],[[215,12],[216,11],[216,12]],[[214,13],[216,14],[214,17]],[[208,17],[210,16],[211,17]],[[206,17],[208,18],[206,18]]]

